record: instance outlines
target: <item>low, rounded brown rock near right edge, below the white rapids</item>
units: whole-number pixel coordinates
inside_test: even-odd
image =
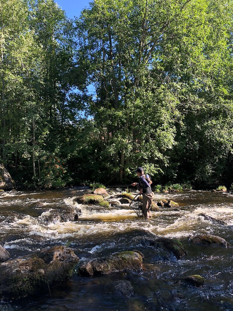
[[[190,242],[196,245],[203,246],[221,246],[230,247],[230,244],[225,239],[212,234],[200,234],[190,238]]]

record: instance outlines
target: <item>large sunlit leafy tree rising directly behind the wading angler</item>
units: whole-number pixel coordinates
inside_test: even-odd
[[[78,57],[95,88],[92,136],[111,174],[122,180],[146,163],[151,174],[166,170],[189,109],[207,104],[206,73],[217,74],[227,53],[230,16],[222,0],[96,0],[82,12]]]

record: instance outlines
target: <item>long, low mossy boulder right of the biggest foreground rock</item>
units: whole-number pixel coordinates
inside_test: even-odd
[[[109,257],[94,258],[81,263],[78,267],[81,276],[97,276],[123,270],[142,269],[142,256],[136,252],[121,252]]]

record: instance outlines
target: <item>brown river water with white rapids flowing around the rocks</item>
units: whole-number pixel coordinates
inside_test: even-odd
[[[115,193],[121,189],[115,189]],[[0,197],[0,244],[17,258],[45,247],[68,245],[80,261],[137,249],[144,253],[143,270],[124,271],[98,277],[72,279],[59,288],[18,301],[0,301],[0,311],[219,311],[233,310],[233,194],[187,191],[155,194],[178,202],[179,211],[161,208],[151,220],[137,217],[130,209],[104,209],[78,204],[86,188],[57,191],[9,191]],[[43,203],[40,206],[38,203]],[[59,209],[79,211],[76,222],[52,217]],[[226,225],[216,225],[198,214],[204,213]],[[190,236],[218,235],[232,248],[193,245]],[[141,243],[143,237],[179,239],[187,255],[181,260],[163,250]],[[184,285],[180,277],[199,274],[202,287]],[[134,294],[116,296],[109,289],[113,281],[130,281]]]

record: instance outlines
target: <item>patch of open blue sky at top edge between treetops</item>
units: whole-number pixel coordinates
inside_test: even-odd
[[[66,11],[66,15],[69,18],[74,16],[80,16],[80,12],[85,8],[89,7],[91,0],[54,0],[62,10]]]

